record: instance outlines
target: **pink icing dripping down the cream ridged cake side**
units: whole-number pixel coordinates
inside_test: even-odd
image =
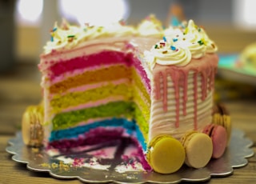
[[[198,129],[198,74],[202,76],[201,95],[204,101],[208,95],[207,90],[214,89],[214,76],[217,71],[218,56],[216,54],[207,54],[204,58],[192,59],[190,64],[184,67],[178,66],[160,66],[157,65],[154,70],[154,94],[156,100],[162,99],[162,106],[164,112],[167,112],[167,76],[170,75],[174,84],[174,96],[176,101],[176,121],[175,127],[179,127],[179,109],[180,109],[180,96],[179,88],[183,88],[182,97],[182,111],[186,115],[186,102],[187,102],[187,85],[188,75],[190,71],[194,71],[193,85],[194,85],[194,130]],[[162,79],[162,80],[161,80]],[[161,94],[162,82],[162,94]]]

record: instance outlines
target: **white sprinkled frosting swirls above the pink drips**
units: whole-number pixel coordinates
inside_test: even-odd
[[[144,53],[151,70],[156,63],[186,66],[191,58],[202,58],[218,50],[206,31],[196,26],[193,20],[183,22],[181,26],[169,27],[165,35],[150,51]]]

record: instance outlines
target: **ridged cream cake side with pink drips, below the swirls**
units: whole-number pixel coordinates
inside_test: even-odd
[[[192,59],[185,67],[156,66],[150,118],[150,139],[159,134],[182,138],[212,122],[216,54]],[[161,87],[162,86],[162,87]]]

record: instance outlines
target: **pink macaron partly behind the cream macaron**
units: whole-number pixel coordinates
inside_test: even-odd
[[[213,142],[213,155],[212,158],[220,158],[226,150],[227,134],[223,126],[210,124],[202,131],[208,134]]]

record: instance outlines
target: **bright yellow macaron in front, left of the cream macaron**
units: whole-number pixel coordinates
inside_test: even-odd
[[[179,170],[185,161],[185,150],[177,139],[161,135],[152,139],[147,160],[154,171],[171,174]]]

